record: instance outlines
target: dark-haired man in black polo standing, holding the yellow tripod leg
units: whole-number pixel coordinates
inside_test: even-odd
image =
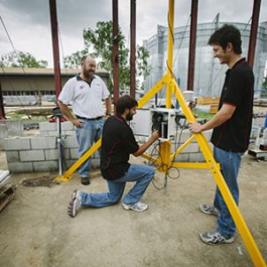
[[[214,128],[211,142],[214,145],[214,157],[221,165],[221,172],[229,187],[233,199],[239,204],[238,172],[241,156],[248,149],[249,135],[253,115],[254,75],[246,59],[241,57],[240,31],[231,25],[225,25],[210,36],[214,57],[220,64],[228,65],[225,84],[220,97],[217,114],[207,123],[192,123],[193,133]],[[213,205],[201,205],[200,210],[208,215],[217,216],[217,228],[201,233],[203,242],[210,245],[232,243],[236,226],[216,188]]]

